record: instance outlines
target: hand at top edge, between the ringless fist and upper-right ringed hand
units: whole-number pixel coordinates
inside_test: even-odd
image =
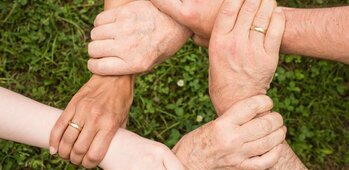
[[[151,0],[162,12],[194,32],[193,40],[208,46],[214,22],[223,0]],[[238,11],[238,10],[237,10]]]

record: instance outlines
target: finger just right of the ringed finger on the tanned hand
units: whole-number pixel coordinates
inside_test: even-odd
[[[76,140],[72,152],[70,154],[70,161],[73,164],[81,164],[96,134],[97,128],[95,128],[95,126],[93,125],[90,125],[89,123],[86,123],[84,129],[81,131],[78,139]]]

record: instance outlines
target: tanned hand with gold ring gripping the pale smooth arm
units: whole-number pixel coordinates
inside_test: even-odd
[[[63,159],[86,168],[97,166],[127,119],[132,94],[132,77],[92,76],[52,129],[50,152],[54,154],[58,148]],[[70,121],[82,127],[82,131],[69,126]]]

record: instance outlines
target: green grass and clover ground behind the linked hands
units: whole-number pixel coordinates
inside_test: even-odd
[[[348,5],[349,0],[279,3],[321,7]],[[0,86],[64,109],[91,76],[86,45],[101,10],[97,0],[1,0]],[[349,67],[293,55],[281,58],[269,94],[284,116],[288,141],[311,169],[349,169]],[[188,42],[172,59],[140,76],[130,129],[171,147],[214,119],[207,69],[207,51]],[[78,167],[47,150],[0,140],[0,169]]]

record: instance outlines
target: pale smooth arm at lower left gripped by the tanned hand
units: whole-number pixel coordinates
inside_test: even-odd
[[[50,130],[62,113],[0,87],[0,138],[48,148]],[[104,169],[181,169],[164,145],[119,129],[99,164]],[[137,168],[138,167],[138,168]]]

